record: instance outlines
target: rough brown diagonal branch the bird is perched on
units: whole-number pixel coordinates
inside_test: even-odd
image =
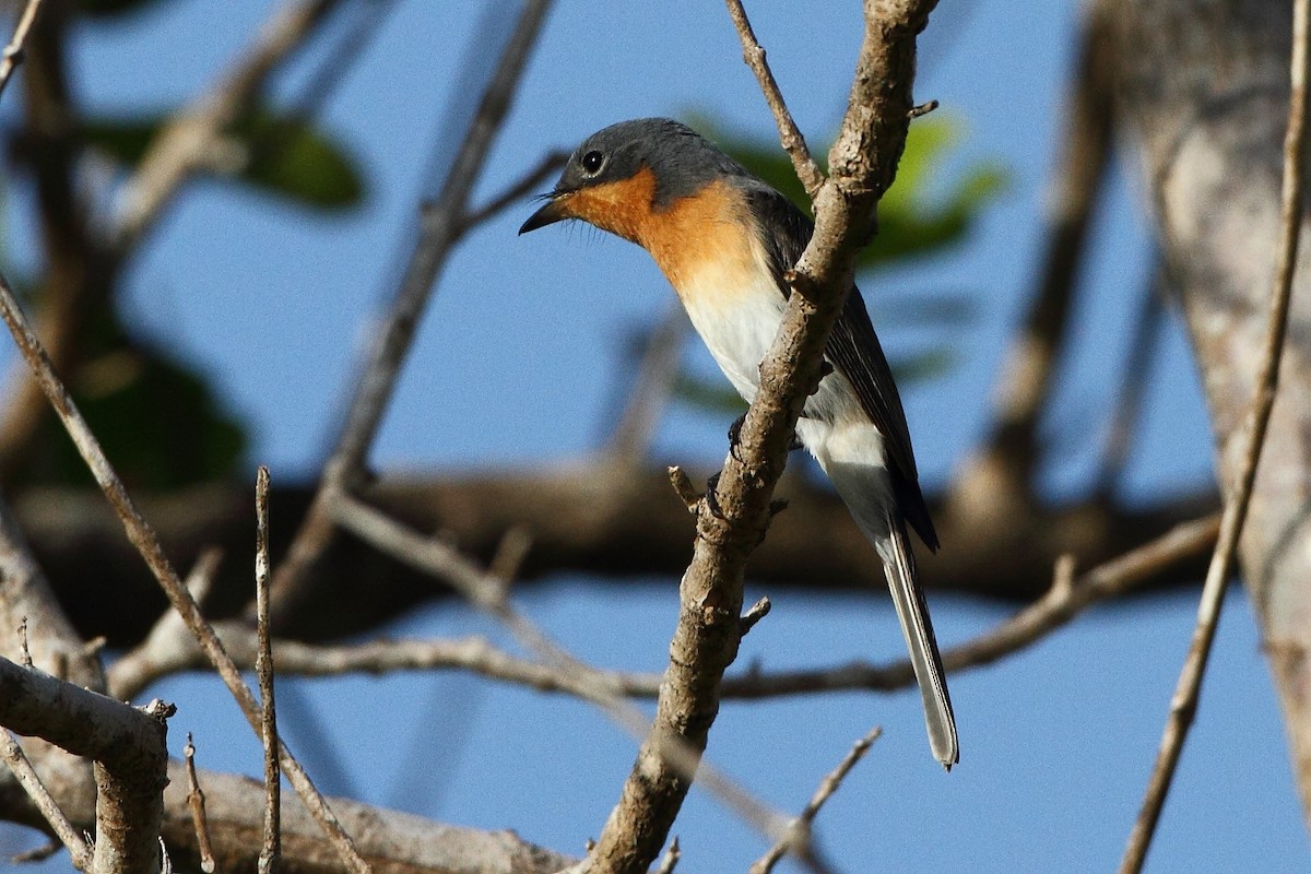
[[[679,588],[678,626],[656,706],[619,803],[586,870],[645,871],[659,854],[690,781],[661,753],[671,739],[701,751],[718,710],[718,687],[737,656],[746,560],[764,536],[773,486],[808,388],[818,381],[829,332],[852,284],[852,263],[874,231],[874,210],[891,185],[914,105],[915,37],[933,0],[865,3],[865,33],[851,97],[829,155],[830,178],[815,198],[815,231],[791,282],[779,337],[760,366],[738,451],[730,452],[713,501],[697,507],[696,545]]]

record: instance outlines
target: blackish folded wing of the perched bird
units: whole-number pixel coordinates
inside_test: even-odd
[[[814,225],[791,200],[763,182],[747,190],[747,200],[751,214],[762,223],[779,291],[787,295],[791,288],[783,275],[797,263],[806,244],[810,242]],[[847,304],[834,324],[829,345],[825,347],[825,358],[847,376],[856,389],[860,406],[884,435],[888,472],[897,504],[915,533],[929,549],[936,550],[937,532],[933,529],[933,520],[928,515],[924,495],[919,489],[919,472],[915,468],[910,428],[906,426],[906,411],[902,409],[901,394],[897,393],[888,358],[865,311],[865,301],[856,287],[851,288]]]

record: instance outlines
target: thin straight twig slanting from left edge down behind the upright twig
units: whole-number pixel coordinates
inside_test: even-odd
[[[160,546],[153,528],[146,522],[131,497],[128,497],[123,481],[114,472],[100,442],[92,434],[90,427],[88,427],[87,419],[83,418],[72,397],[68,394],[68,389],[55,376],[50,358],[46,355],[45,349],[42,349],[41,341],[31,332],[31,326],[22,314],[22,308],[18,305],[13,290],[4,276],[0,276],[0,316],[4,317],[5,324],[9,326],[18,351],[31,368],[37,383],[41,385],[41,390],[59,414],[59,419],[77,447],[77,452],[90,469],[96,484],[114,507],[114,512],[127,532],[127,539],[142,554],[146,565],[151,569],[155,579],[173,605],[173,609],[181,613],[187,628],[197,636],[201,647],[218,670],[224,685],[228,687],[228,691],[241,706],[250,727],[258,734],[261,725],[260,704],[254,700],[250,688],[241,679],[232,659],[223,650],[223,643],[214,634],[214,629],[201,615],[201,608],[191,598],[191,594],[187,592],[186,586],[182,584],[168,556],[164,554],[164,549]],[[286,744],[281,746],[281,761],[287,780],[291,781],[291,785],[296,789],[296,794],[300,795],[307,810],[309,810],[311,815],[324,829],[324,833],[342,857],[342,861],[353,871],[361,874],[367,871],[368,864],[359,856],[359,850],[355,849],[354,841],[341,827],[341,823],[337,822],[336,815],[333,815],[332,808],[328,806],[328,801],[315,788],[309,780],[309,774],[305,773],[300,763],[291,755]]]

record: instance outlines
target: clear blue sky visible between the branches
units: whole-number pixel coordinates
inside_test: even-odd
[[[101,111],[176,105],[223,69],[274,8],[174,0],[121,26],[87,29],[75,43],[79,98]],[[368,174],[362,210],[313,215],[202,182],[131,266],[130,324],[212,373],[252,427],[252,468],[267,464],[284,481],[305,476],[330,442],[367,317],[395,280],[416,193],[447,106],[459,100],[452,83],[482,9],[472,0],[400,3],[328,105],[325,126]],[[754,3],[749,10],[801,128],[823,140],[844,105],[859,4]],[[1033,286],[1076,16],[1074,3],[944,4],[922,42],[918,98],[941,101],[966,131],[944,187],[974,161],[996,159],[1011,170],[1007,193],[965,245],[863,282],[876,324],[881,308],[888,313],[914,294],[965,291],[975,301],[975,318],[947,337],[882,332],[893,355],[944,339],[957,355],[950,373],[906,392],[931,485],[945,481],[983,432],[1006,338]],[[295,93],[304,69],[282,76],[278,93]],[[480,191],[499,190],[544,149],[572,147],[611,122],[694,113],[738,134],[775,136],[720,4],[561,3]],[[1045,425],[1051,498],[1078,494],[1095,470],[1148,270],[1145,198],[1131,152],[1125,156],[1129,172],[1117,176],[1099,216],[1072,354]],[[10,245],[33,263],[29,197],[21,187],[10,197]],[[376,447],[379,468],[538,466],[582,456],[608,432],[625,379],[624,338],[658,318],[671,295],[645,253],[621,241],[558,229],[518,238],[527,210],[486,224],[451,259]],[[695,343],[688,356],[713,373]],[[1148,501],[1207,482],[1211,443],[1177,324],[1156,351],[1146,409],[1122,494]],[[675,411],[653,460],[714,464],[726,425]],[[616,596],[614,586],[569,579],[535,588],[520,605],[579,656],[662,670],[675,584],[638,580]],[[749,592],[760,594],[773,598],[775,611],[747,637],[742,664],[901,654],[882,596]],[[1100,608],[1015,658],[953,677],[962,763],[950,776],[927,753],[914,693],[725,705],[709,757],[793,811],[878,723],[884,738],[819,819],[823,848],[842,870],[1105,870],[1137,812],[1193,613],[1192,594]],[[948,645],[1006,615],[992,603],[933,598]],[[503,638],[452,607],[391,629],[471,632]],[[467,676],[286,687],[288,739],[329,790],[513,828],[561,852],[581,853],[599,831],[632,764],[633,742],[587,706]],[[258,773],[254,739],[216,683],[185,677],[152,694],[180,705],[174,750],[191,731],[205,767]],[[743,870],[764,850],[699,790],[675,832],[686,870]],[[1277,704],[1251,612],[1235,591],[1147,870],[1302,870],[1306,852]]]

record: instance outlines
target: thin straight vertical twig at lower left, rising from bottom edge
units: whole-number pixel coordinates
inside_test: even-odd
[[[278,708],[273,694],[273,651],[269,646],[269,468],[254,478],[254,600],[256,676],[260,679],[261,742],[264,743],[264,844],[260,874],[273,874],[282,856],[282,776],[278,773]]]

